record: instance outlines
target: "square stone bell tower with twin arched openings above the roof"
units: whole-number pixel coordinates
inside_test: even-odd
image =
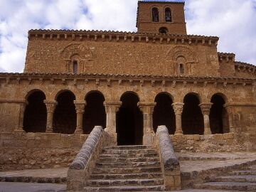
[[[184,2],[138,1],[137,31],[186,35]]]

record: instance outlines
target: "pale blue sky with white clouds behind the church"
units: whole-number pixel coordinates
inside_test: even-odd
[[[23,71],[31,28],[137,31],[136,11],[137,0],[0,0],[0,72]],[[186,22],[256,65],[256,0],[187,0]]]

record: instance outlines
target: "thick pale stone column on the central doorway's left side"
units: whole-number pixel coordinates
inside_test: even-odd
[[[106,129],[105,132],[110,134],[110,137],[112,139],[111,144],[117,145],[117,112],[119,110],[119,107],[122,105],[122,102],[120,101],[105,101],[105,111],[106,111]]]

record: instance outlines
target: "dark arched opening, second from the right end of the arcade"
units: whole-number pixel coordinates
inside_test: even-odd
[[[198,106],[201,103],[199,95],[190,92],[183,99],[183,112],[181,114],[181,124],[183,134],[203,134],[203,114]]]

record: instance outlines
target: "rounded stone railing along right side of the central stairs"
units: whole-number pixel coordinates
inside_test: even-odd
[[[164,186],[166,190],[181,190],[180,165],[165,125],[157,127],[156,146],[159,150],[161,166],[164,171]]]

